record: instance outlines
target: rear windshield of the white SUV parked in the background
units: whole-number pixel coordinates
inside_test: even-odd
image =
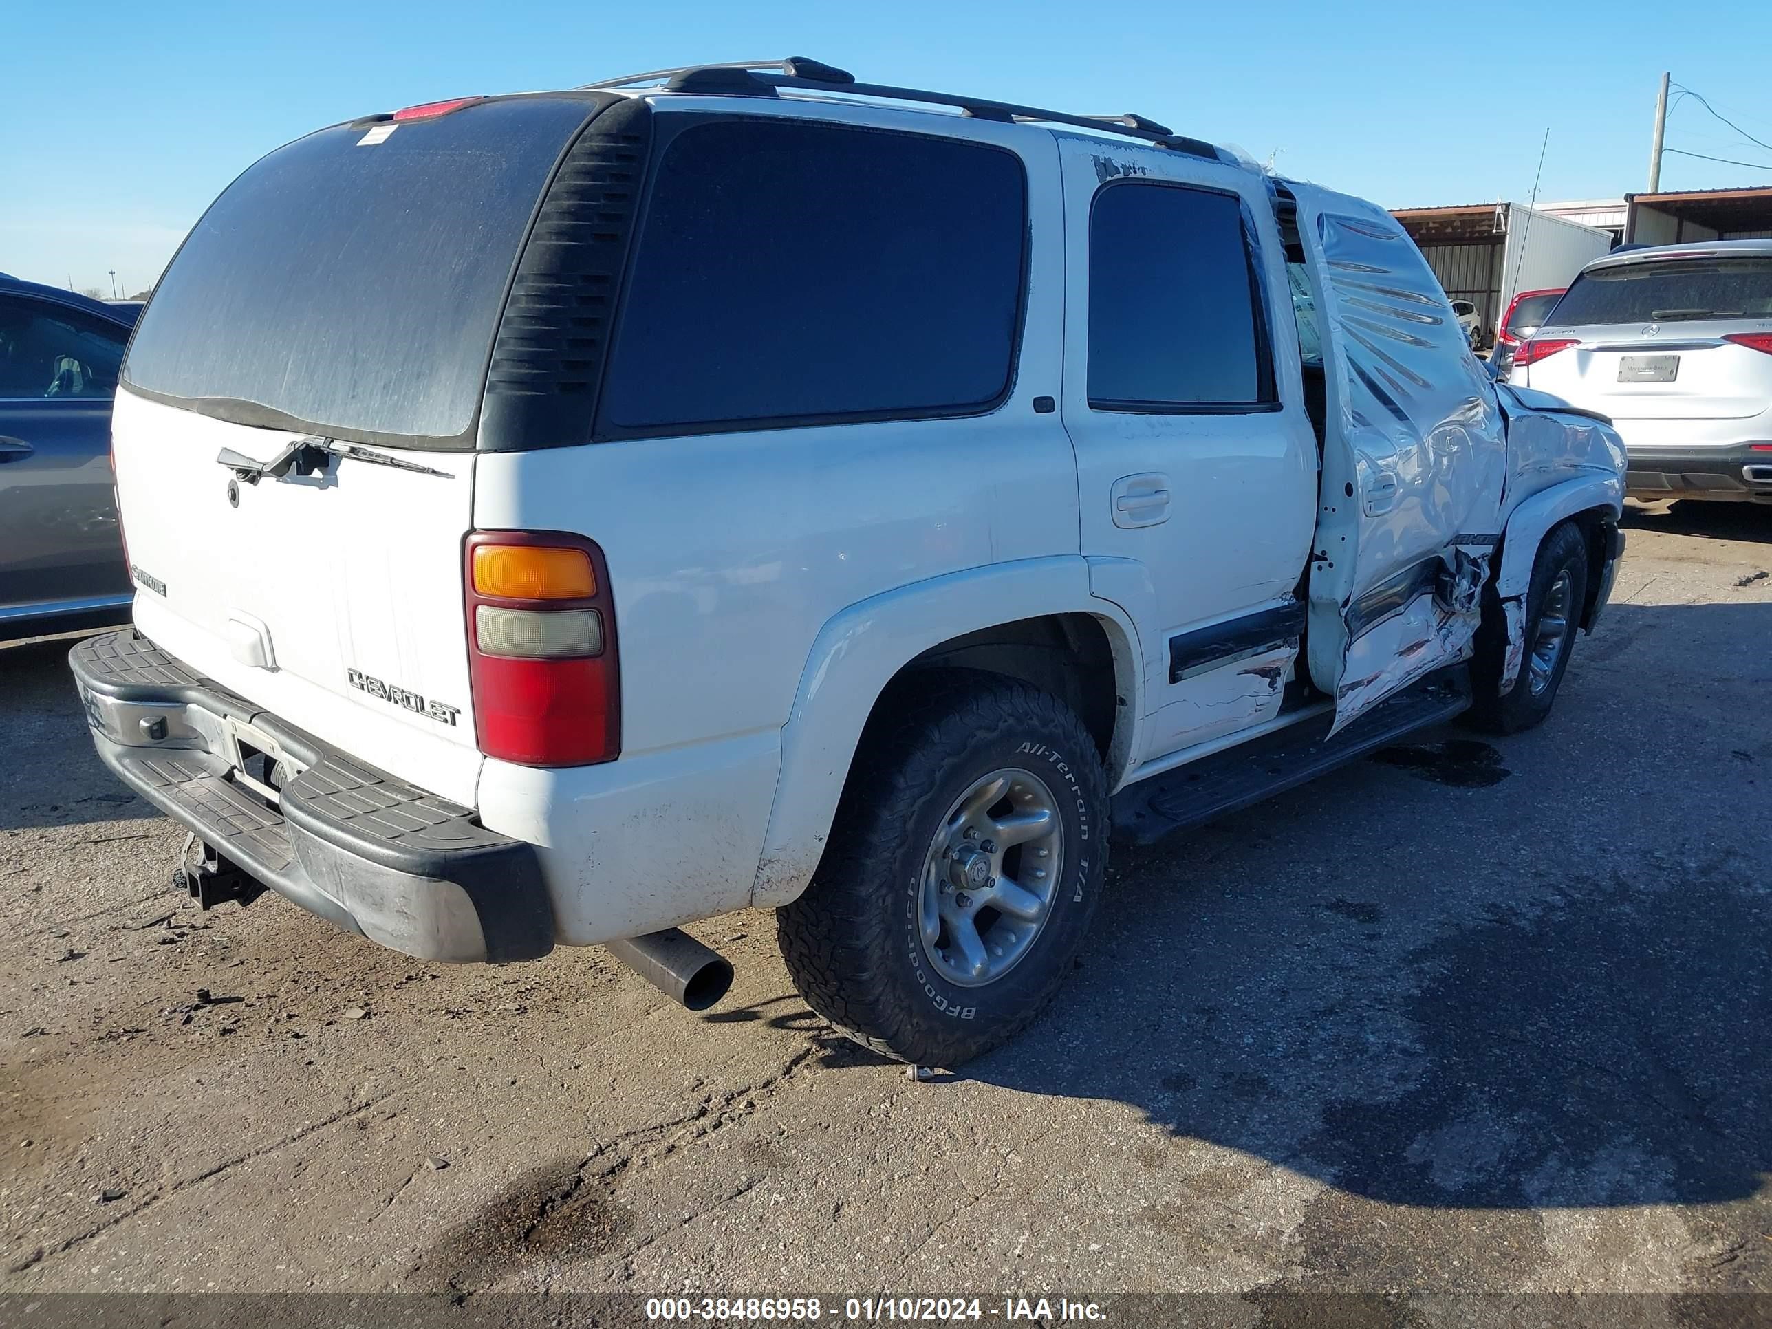
[[[1542,326],[1763,319],[1768,314],[1772,257],[1650,259],[1582,273]]]

